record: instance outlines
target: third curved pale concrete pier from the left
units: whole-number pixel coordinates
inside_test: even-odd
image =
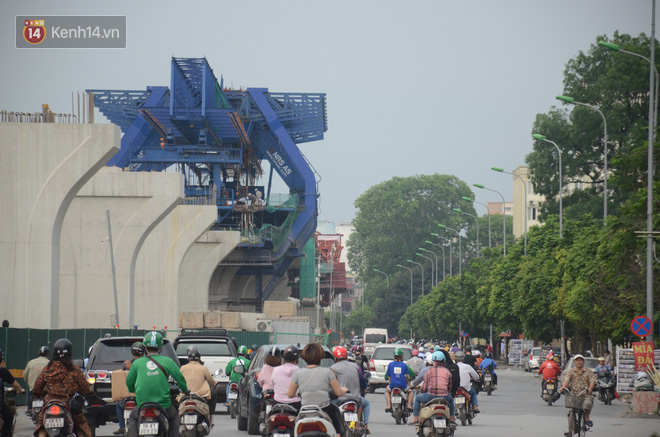
[[[135,323],[141,328],[176,329],[183,259],[217,220],[215,205],[179,205],[156,226],[140,251],[135,269]]]

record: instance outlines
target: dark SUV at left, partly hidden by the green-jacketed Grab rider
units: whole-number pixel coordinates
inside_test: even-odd
[[[92,431],[92,437],[96,435],[96,428],[105,425],[108,422],[118,423],[116,402],[112,400],[112,385],[110,374],[122,368],[124,361],[133,358],[131,346],[137,341],[142,341],[143,337],[112,337],[106,334],[105,337],[96,340],[91,348],[87,366],[83,372],[87,382],[92,386],[94,394],[101,398],[105,403],[102,407],[85,408],[85,417]],[[163,338],[163,348],[160,355],[174,360],[179,365],[179,359],[174,353],[174,348],[167,338]],[[80,360],[76,360],[78,364]],[[82,363],[80,363],[82,364]],[[81,366],[82,367],[82,366]],[[170,389],[178,392],[176,382],[170,376]]]

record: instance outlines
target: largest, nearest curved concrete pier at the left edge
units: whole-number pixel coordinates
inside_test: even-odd
[[[80,188],[119,151],[115,125],[0,123],[0,309],[58,328],[60,235]]]

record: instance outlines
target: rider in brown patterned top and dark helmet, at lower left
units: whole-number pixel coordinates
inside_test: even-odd
[[[73,345],[66,338],[60,338],[53,345],[53,355],[50,362],[34,382],[33,393],[35,396],[44,398],[44,405],[52,400],[68,403],[69,398],[76,392],[87,396],[92,394],[92,388],[85,379],[80,367],[73,364],[71,355]],[[44,412],[39,414],[39,423],[34,431],[36,437],[46,437],[46,429],[43,425]],[[74,434],[78,437],[90,437],[92,431],[89,429],[87,419],[82,411],[72,415]]]

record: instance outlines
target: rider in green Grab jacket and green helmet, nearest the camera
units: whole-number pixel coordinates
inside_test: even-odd
[[[158,331],[148,332],[142,341],[145,347],[145,356],[133,362],[126,376],[126,387],[135,393],[138,408],[133,408],[128,417],[128,437],[138,436],[138,414],[142,404],[154,402],[161,406],[169,422],[169,437],[179,435],[179,414],[170,399],[169,376],[172,375],[183,392],[188,391],[186,378],[183,377],[179,367],[174,361],[158,355],[163,347],[163,336]]]

